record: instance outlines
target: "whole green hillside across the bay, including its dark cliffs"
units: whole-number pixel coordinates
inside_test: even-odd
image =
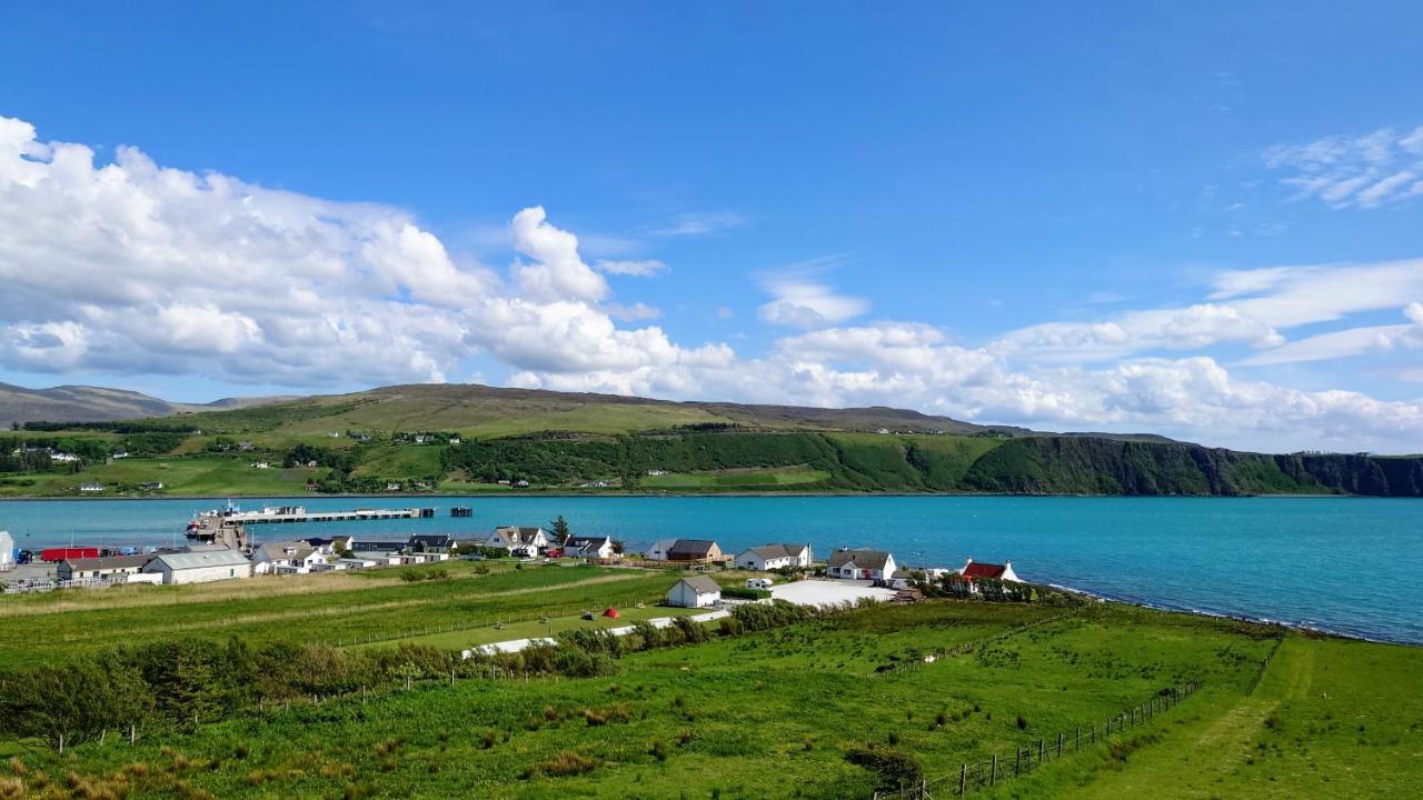
[[[50,454],[80,461],[51,460]],[[676,491],[1423,497],[1423,458],[1042,434],[895,409],[398,386],[223,411],[27,423],[0,495]],[[158,487],[157,484],[162,484]]]

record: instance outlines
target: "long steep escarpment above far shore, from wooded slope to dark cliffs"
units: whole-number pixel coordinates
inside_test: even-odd
[[[1005,494],[1423,497],[1423,458],[1268,456],[1195,444],[1096,437],[901,437],[835,433],[672,433],[603,440],[467,443],[447,470],[514,473],[559,484],[647,470],[706,473],[804,467],[798,491],[982,491]],[[776,485],[758,487],[776,491]]]

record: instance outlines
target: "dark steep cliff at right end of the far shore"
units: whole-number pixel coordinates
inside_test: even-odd
[[[1423,497],[1423,458],[1266,456],[1194,444],[1016,438],[973,463],[963,488],[1016,494]]]

